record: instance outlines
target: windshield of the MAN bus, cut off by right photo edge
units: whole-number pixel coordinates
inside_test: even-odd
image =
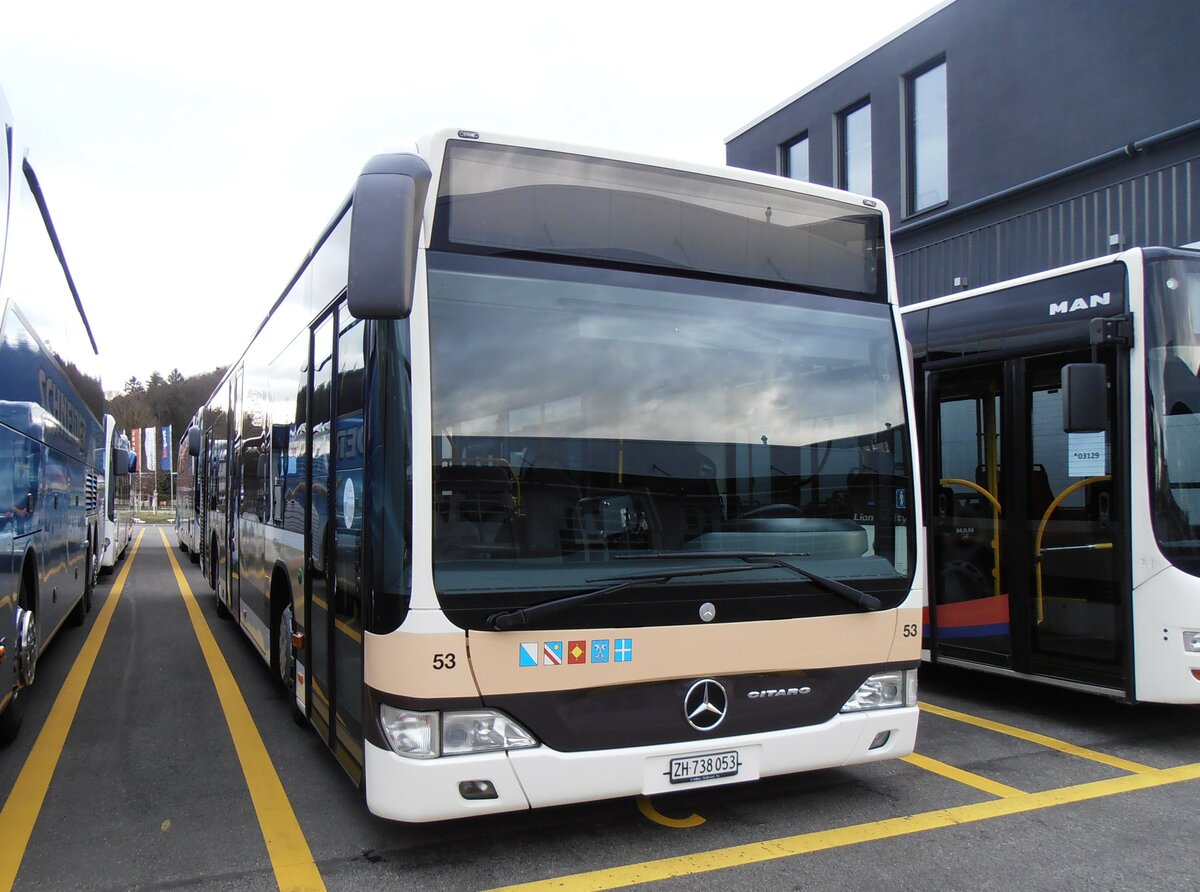
[[[1200,575],[1200,257],[1150,262],[1146,311],[1154,534]]]

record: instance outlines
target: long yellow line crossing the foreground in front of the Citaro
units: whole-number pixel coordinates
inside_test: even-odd
[[[797,855],[826,851],[845,845],[893,839],[941,827],[955,827],[992,818],[1007,818],[1026,812],[1054,808],[1055,806],[1087,802],[1122,792],[1148,790],[1156,786],[1198,779],[1200,779],[1200,764],[1182,765],[1177,768],[1164,768],[1162,771],[1152,768],[1138,774],[1122,774],[1118,778],[1109,780],[1097,780],[1058,790],[1022,794],[1002,800],[989,800],[988,802],[973,806],[944,808],[936,812],[905,815],[902,818],[889,818],[870,824],[856,824],[851,827],[802,833],[794,837],[784,837],[782,839],[769,839],[762,843],[732,845],[727,849],[715,849],[713,851],[696,852],[695,855],[680,855],[673,858],[660,858],[658,861],[644,861],[638,864],[625,864],[623,867],[592,870],[569,876],[556,876],[536,882],[504,886],[503,890],[492,890],[492,892],[514,892],[515,890],[521,890],[522,892],[526,890],[529,892],[540,892],[542,890],[583,892],[584,890],[589,890],[594,892],[598,890],[624,888],[626,886],[636,886],[641,882],[654,882],[679,876],[696,876],[732,867],[745,867],[748,864],[790,858]]]

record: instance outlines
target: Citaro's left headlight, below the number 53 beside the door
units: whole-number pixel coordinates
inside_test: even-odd
[[[408,759],[502,753],[538,746],[521,725],[491,710],[443,714],[380,705],[379,728],[391,752]]]

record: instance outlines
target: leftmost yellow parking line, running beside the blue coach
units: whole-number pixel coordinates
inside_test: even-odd
[[[4,845],[0,845],[0,890],[12,888],[12,884],[17,880],[17,870],[20,869],[20,862],[25,857],[29,838],[34,834],[34,825],[42,810],[42,802],[46,801],[46,792],[50,789],[54,770],[59,765],[59,758],[66,746],[71,725],[79,711],[79,701],[83,700],[88,678],[91,677],[91,670],[96,665],[96,655],[100,653],[100,646],[104,642],[104,635],[108,634],[113,612],[116,610],[116,603],[121,599],[125,581],[130,577],[130,568],[133,567],[133,558],[138,555],[138,545],[142,544],[144,533],[144,529],[138,533],[138,538],[133,543],[133,551],[125,558],[125,567],[121,568],[120,575],[113,583],[113,591],[104,600],[104,606],[97,615],[96,622],[92,623],[88,639],[79,649],[79,655],[71,665],[71,671],[67,674],[59,695],[54,698],[50,714],[46,718],[46,724],[42,725],[37,740],[34,741],[34,748],[30,750],[20,774],[17,776],[17,783],[8,791],[4,810],[0,810],[0,839],[4,840]],[[28,696],[28,692],[25,696]]]

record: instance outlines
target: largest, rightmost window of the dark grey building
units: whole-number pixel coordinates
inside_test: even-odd
[[[918,214],[949,199],[946,62],[907,78],[907,211]]]

